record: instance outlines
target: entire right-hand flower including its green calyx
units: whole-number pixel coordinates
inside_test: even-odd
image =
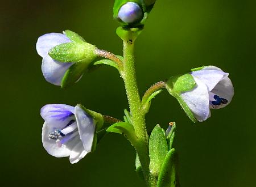
[[[215,66],[200,67],[168,80],[167,90],[192,121],[193,117],[205,121],[210,117],[210,109],[226,107],[232,100],[234,88],[228,75]]]

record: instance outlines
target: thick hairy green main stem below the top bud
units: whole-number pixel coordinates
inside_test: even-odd
[[[156,178],[150,175],[149,170],[150,158],[148,156],[148,135],[144,114],[141,110],[141,98],[139,96],[137,80],[135,77],[134,42],[123,41],[123,57],[123,71],[121,72],[121,76],[125,82],[125,89],[132,117],[131,119],[138,138],[137,145],[134,146],[139,155],[147,186],[155,187]]]

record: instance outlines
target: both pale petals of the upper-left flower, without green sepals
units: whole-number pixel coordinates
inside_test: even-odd
[[[49,56],[48,51],[57,45],[68,42],[71,42],[71,40],[61,33],[47,33],[40,36],[38,42],[36,42],[36,50],[38,51],[38,54],[43,57],[42,72],[44,78],[46,78],[49,83],[57,86],[60,86],[65,72],[73,63],[58,62]]]

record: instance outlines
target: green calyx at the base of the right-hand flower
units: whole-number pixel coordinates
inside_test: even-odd
[[[191,91],[195,86],[196,82],[193,79],[193,76],[190,74],[172,76],[166,83],[166,89],[169,94],[177,99],[181,105],[181,108],[183,108],[189,119],[194,123],[196,122],[196,118],[194,117],[191,109],[189,109],[187,103],[185,103],[185,101],[180,96],[180,93]]]

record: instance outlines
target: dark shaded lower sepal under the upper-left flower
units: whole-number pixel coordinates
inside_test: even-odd
[[[61,80],[61,88],[67,88],[76,83],[81,78],[82,74],[85,73],[88,66],[88,62],[81,61],[74,63],[71,67],[69,67]]]

